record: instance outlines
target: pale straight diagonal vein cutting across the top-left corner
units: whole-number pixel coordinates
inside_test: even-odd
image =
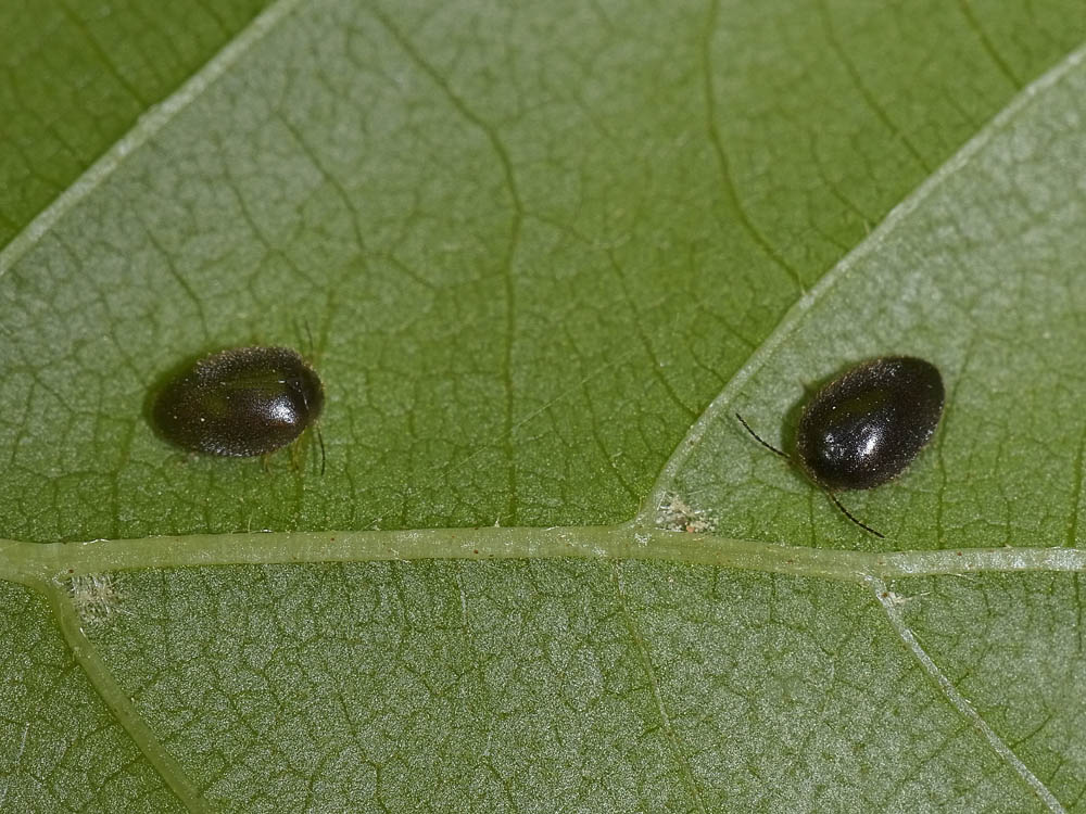
[[[148,109],[128,132],[104,152],[79,178],[49,206],[38,213],[3,251],[0,251],[0,277],[49,233],[66,213],[110,178],[124,161],[150,141],[178,113],[201,98],[227,71],[264,39],[285,17],[300,5],[300,0],[279,0],[258,14],[229,44],[162,103]]]

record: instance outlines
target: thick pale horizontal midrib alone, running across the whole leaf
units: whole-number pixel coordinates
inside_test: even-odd
[[[1086,550],[1079,548],[847,551],[614,525],[194,534],[88,543],[0,540],[0,578],[41,587],[83,574],[144,568],[559,557],[685,562],[848,582],[993,571],[1086,571]]]

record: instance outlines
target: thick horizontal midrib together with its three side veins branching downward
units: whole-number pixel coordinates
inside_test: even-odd
[[[67,599],[73,577],[110,571],[185,565],[243,565],[276,563],[363,562],[378,560],[495,560],[582,558],[609,561],[613,574],[621,560],[684,562],[756,570],[861,584],[886,611],[905,646],[927,672],[939,691],[985,736],[1000,760],[1018,774],[1049,811],[1063,807],[1028,766],[976,713],[968,699],[922,650],[905,625],[886,588],[886,580],[985,571],[1086,570],[1086,550],[1076,548],[1005,547],[937,551],[850,551],[729,538],[651,529],[624,523],[615,526],[555,526],[437,529],[420,531],[303,532],[187,535],[84,543],[0,540],[0,578],[20,582],[43,594],[76,661],[122,726],[154,766],[178,800],[192,812],[209,811],[206,799],[185,768],[144,721],[117,684],[98,649],[83,629],[83,620]],[[618,585],[619,600],[623,601]],[[629,615],[629,614],[628,614]],[[628,619],[635,640],[635,622]],[[644,643],[637,656],[652,681],[654,664]],[[668,711],[657,692],[662,723]],[[687,791],[703,806],[690,773],[681,740],[671,732],[672,759],[685,778]]]

